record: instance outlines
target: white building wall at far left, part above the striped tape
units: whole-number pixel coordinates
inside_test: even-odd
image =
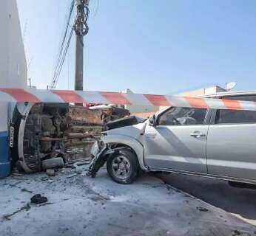
[[[16,0],[1,1],[0,87],[27,86],[27,62]]]

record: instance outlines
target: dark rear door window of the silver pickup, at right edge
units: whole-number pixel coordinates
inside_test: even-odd
[[[218,110],[215,124],[256,123],[256,111]]]

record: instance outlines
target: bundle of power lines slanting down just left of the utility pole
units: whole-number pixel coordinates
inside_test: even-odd
[[[71,1],[71,5],[70,5],[68,17],[67,17],[67,24],[66,24],[64,35],[63,35],[62,42],[61,42],[61,49],[58,52],[58,60],[57,60],[55,70],[54,70],[54,73],[53,73],[53,80],[52,80],[52,85],[51,85],[51,88],[53,88],[53,89],[55,89],[55,87],[57,86],[58,78],[61,74],[61,69],[62,69],[64,60],[65,60],[65,57],[67,55],[67,50],[70,46],[70,41],[71,41],[71,38],[72,38],[72,35],[73,35],[74,30],[72,29],[71,32],[70,32],[70,37],[67,40],[67,32],[68,32],[68,29],[70,27],[70,20],[71,20],[71,17],[72,17],[74,5],[75,5],[75,0]],[[65,44],[66,41],[67,41],[67,44],[66,44],[66,47],[64,49],[64,44]]]

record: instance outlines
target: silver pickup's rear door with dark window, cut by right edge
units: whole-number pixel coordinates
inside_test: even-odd
[[[207,138],[209,174],[256,180],[256,111],[218,110]]]

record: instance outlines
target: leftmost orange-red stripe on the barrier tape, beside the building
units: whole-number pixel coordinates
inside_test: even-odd
[[[24,91],[24,89],[0,89],[0,91],[10,94],[10,96],[12,96],[19,103],[41,103],[41,100],[38,100],[35,95]]]

